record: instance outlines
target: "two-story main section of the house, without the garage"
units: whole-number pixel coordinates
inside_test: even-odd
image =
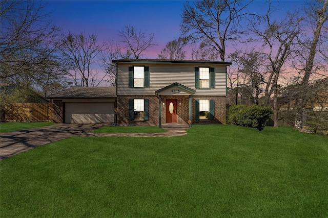
[[[230,62],[121,59],[118,125],[225,124]]]

